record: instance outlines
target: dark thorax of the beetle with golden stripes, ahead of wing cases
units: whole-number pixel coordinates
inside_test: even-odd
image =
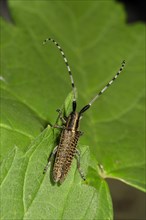
[[[79,128],[79,113],[72,112],[68,118],[66,123],[66,128],[72,131],[77,131]]]

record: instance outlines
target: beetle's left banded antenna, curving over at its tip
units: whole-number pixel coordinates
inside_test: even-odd
[[[54,39],[47,38],[43,41],[43,44],[46,44],[48,41],[53,42],[57,46],[57,48],[60,50],[60,53],[61,53],[61,55],[64,59],[65,64],[66,64],[66,67],[67,67],[67,70],[68,70],[68,73],[69,73],[69,76],[70,76],[70,80],[71,80],[72,90],[73,90],[72,107],[73,107],[73,112],[75,112],[75,110],[76,110],[76,89],[75,89],[75,84],[74,84],[74,80],[73,80],[73,75],[72,75],[72,72],[71,72],[69,64],[68,64],[68,60],[67,60],[62,48],[60,47],[60,45]]]

